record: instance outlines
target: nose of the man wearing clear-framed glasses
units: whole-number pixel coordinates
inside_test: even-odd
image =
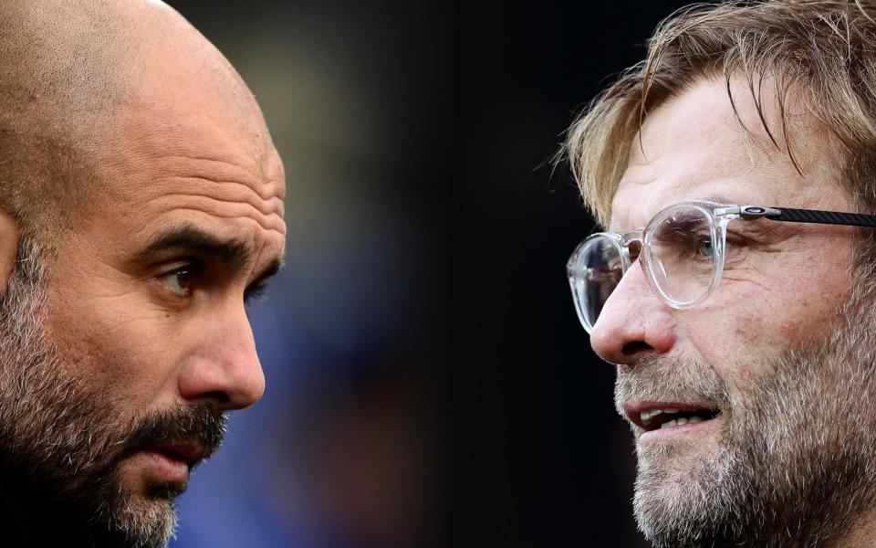
[[[668,353],[675,344],[670,310],[636,261],[605,302],[590,345],[610,364],[632,364],[642,354]]]

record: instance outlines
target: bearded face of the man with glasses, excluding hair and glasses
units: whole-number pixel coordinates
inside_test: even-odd
[[[724,79],[702,79],[649,113],[612,232],[690,200],[854,210],[819,124],[789,116],[798,171],[744,79],[732,84],[735,111]],[[774,103],[765,92],[767,123]],[[635,440],[637,522],[666,548],[832,545],[860,526],[876,479],[876,325],[871,290],[854,282],[854,229],[726,230],[740,258],[706,300],[668,306],[636,262],[592,329]]]

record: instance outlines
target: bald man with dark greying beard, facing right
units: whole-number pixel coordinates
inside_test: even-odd
[[[0,2],[0,545],[164,546],[262,395],[283,256],[261,111],[145,0]]]

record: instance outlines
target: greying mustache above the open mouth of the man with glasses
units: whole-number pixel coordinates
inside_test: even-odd
[[[708,364],[661,355],[647,355],[632,365],[619,365],[614,384],[614,404],[625,416],[623,404],[631,401],[703,404],[715,409],[730,406],[729,388]]]

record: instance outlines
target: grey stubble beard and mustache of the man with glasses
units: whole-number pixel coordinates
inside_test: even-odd
[[[853,295],[822,338],[744,364],[765,373],[732,390],[707,364],[652,357],[619,367],[619,409],[637,399],[723,409],[716,450],[681,441],[636,445],[633,507],[655,547],[829,546],[871,509],[872,302]],[[674,458],[685,466],[673,466]]]

